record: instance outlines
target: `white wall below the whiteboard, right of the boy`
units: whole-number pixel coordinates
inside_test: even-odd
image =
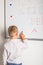
[[[23,65],[43,65],[43,42],[29,41],[23,56]]]

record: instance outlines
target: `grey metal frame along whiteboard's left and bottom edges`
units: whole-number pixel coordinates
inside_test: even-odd
[[[5,31],[5,39],[9,39],[9,37],[6,36],[6,0],[4,0],[4,31]],[[38,38],[26,38],[26,39],[33,41],[43,41],[43,39]]]

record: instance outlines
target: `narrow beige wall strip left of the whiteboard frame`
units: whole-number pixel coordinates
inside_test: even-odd
[[[0,0],[0,65],[2,65],[3,44],[4,44],[4,0]]]

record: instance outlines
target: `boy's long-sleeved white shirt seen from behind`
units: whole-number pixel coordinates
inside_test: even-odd
[[[22,49],[27,47],[27,40],[22,42],[20,39],[9,40],[4,45],[3,63],[22,63]]]

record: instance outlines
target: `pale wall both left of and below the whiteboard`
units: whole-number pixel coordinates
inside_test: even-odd
[[[3,65],[4,42],[4,0],[0,0],[0,65]],[[28,41],[28,48],[23,52],[23,65],[43,65],[43,41]]]

